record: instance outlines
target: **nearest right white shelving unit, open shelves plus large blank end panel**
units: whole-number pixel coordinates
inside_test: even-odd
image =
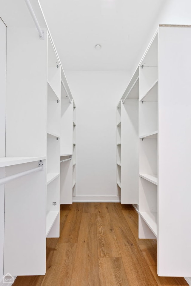
[[[191,276],[190,48],[190,26],[160,25],[139,65],[139,238],[159,276]]]

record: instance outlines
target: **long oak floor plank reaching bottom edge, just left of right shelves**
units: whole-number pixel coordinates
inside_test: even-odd
[[[115,227],[115,235],[122,254],[130,286],[157,286],[154,276],[130,228]]]

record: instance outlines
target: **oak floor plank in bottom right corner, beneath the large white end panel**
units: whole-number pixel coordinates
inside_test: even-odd
[[[161,277],[157,275],[157,266],[150,266],[158,286],[188,286],[183,277]]]

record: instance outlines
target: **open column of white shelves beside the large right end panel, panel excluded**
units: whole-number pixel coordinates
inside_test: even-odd
[[[139,237],[158,236],[158,34],[139,67]],[[147,234],[144,235],[144,228]]]

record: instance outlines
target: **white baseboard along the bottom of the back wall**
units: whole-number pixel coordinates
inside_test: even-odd
[[[120,196],[73,196],[73,203],[120,203]]]

